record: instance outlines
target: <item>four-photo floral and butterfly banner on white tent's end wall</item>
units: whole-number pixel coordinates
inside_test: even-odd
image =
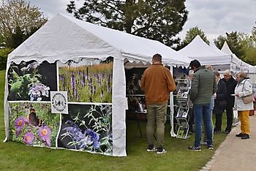
[[[29,61],[10,66],[11,140],[113,155],[113,58],[58,65]],[[50,97],[61,91],[66,94],[65,102],[59,98],[54,102],[66,110],[58,108],[59,113],[52,113]]]

